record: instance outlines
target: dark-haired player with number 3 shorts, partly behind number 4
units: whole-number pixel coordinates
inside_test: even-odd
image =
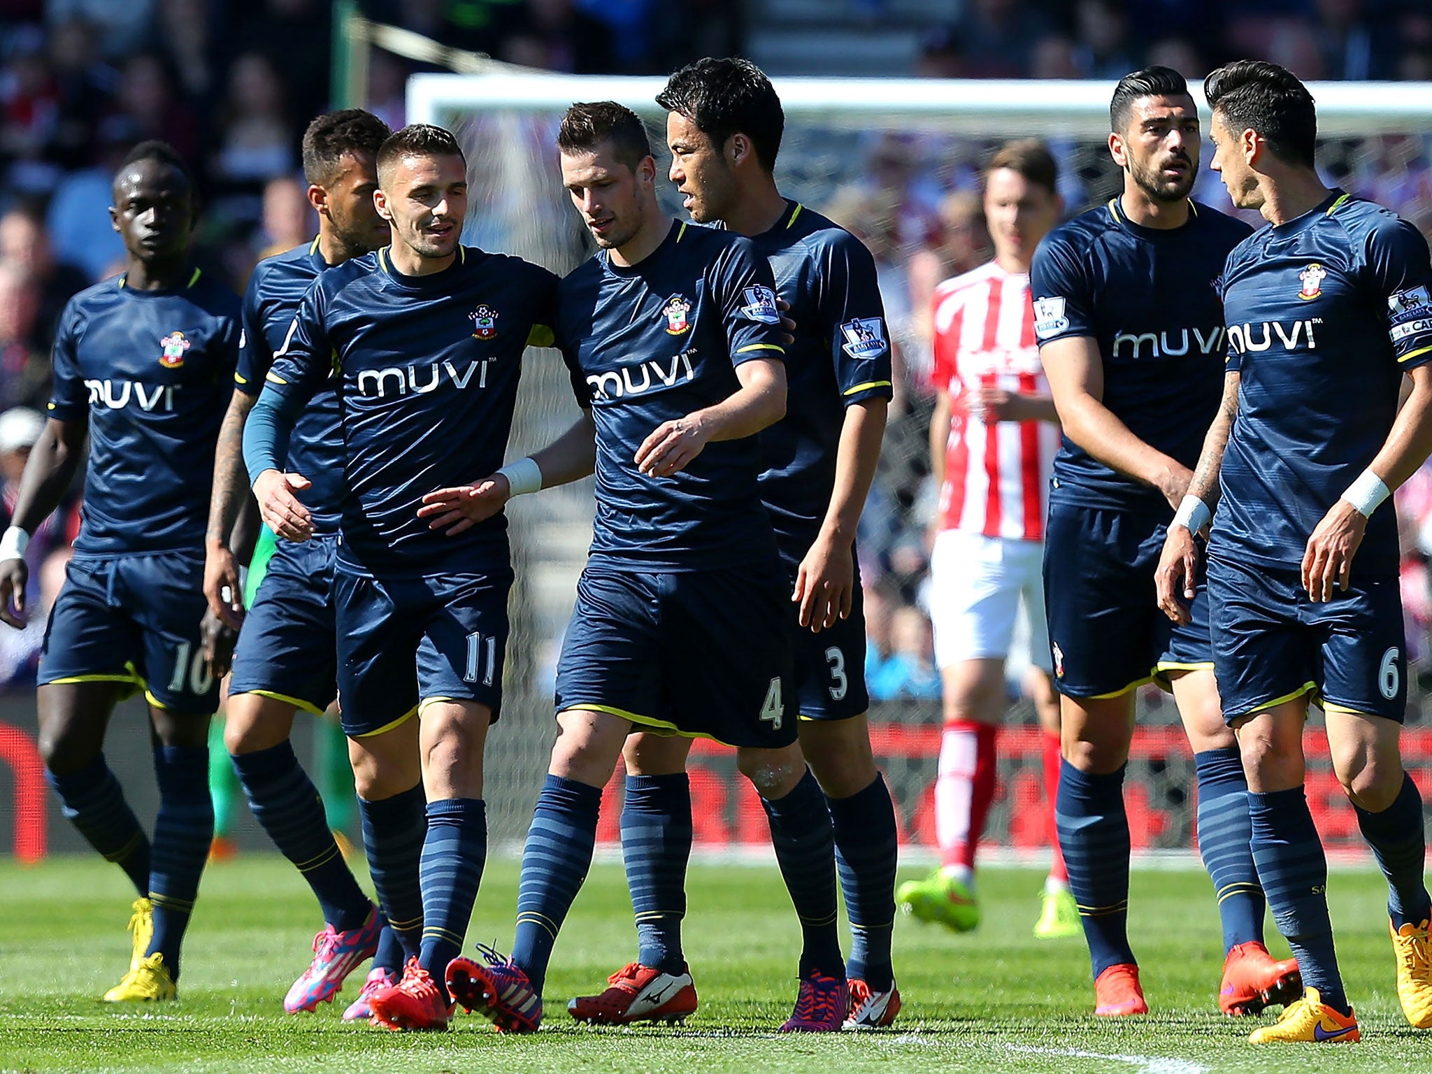
[[[760,498],[793,593],[800,749],[833,822],[853,948],[849,1007],[835,1021],[888,1025],[899,1011],[891,965],[898,835],[895,808],[875,769],[865,710],[865,616],[853,537],[879,461],[891,398],[885,309],[875,261],[848,231],[783,198],[772,170],[785,116],[756,64],[705,59],[676,72],[657,97],[667,109],[670,179],[692,219],[746,235],[789,302],[786,417],[760,431]],[[576,1018],[607,1024],[660,1020],[683,1002],[684,874],[692,845],[690,739],[627,739],[621,848],[637,915],[636,962],[601,995],[569,1004]],[[802,793],[815,793],[806,785]],[[831,972],[839,961],[835,919],[808,922],[806,957]],[[663,1002],[649,997],[664,995]]]

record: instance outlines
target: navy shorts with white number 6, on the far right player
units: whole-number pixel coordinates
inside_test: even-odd
[[[1358,576],[1323,604],[1307,597],[1297,567],[1209,561],[1213,659],[1223,719],[1234,720],[1312,695],[1325,710],[1402,723],[1406,639],[1396,574]]]

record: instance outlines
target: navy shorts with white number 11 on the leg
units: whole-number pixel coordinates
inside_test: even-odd
[[[503,705],[511,569],[372,579],[334,571],[344,733],[377,735],[424,702]]]

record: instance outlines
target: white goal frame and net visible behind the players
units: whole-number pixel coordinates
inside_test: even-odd
[[[619,100],[650,123],[663,203],[680,216],[666,182],[664,117],[654,105],[662,79],[540,73],[420,74],[408,83],[408,120],[453,129],[468,158],[471,200],[465,241],[518,253],[566,272],[591,253],[557,173],[556,130],[576,100]],[[979,212],[979,175],[1011,137],[1045,139],[1061,165],[1070,212],[1114,196],[1121,176],[1108,158],[1108,97],[1097,82],[924,82],[780,79],[786,135],[776,178],[786,196],[836,219],[876,256],[898,347],[898,394],[879,475],[861,528],[861,563],[871,589],[871,720],[879,763],[898,802],[906,846],[934,846],[932,785],[939,750],[938,679],[929,660],[925,526],[935,493],[928,477],[928,306],[934,284],[990,256]],[[1432,86],[1329,83],[1312,87],[1322,130],[1319,162],[1329,182],[1398,209],[1432,231]],[[1201,100],[1200,100],[1201,105]],[[1204,116],[1207,116],[1204,110]],[[1203,173],[1194,196],[1230,205],[1217,176]],[[1253,221],[1259,222],[1259,221]],[[530,355],[514,427],[513,457],[547,442],[577,414],[556,352]],[[503,722],[487,745],[488,816],[495,841],[521,839],[556,732],[551,683],[591,523],[591,483],[523,497],[510,508],[517,596]],[[1429,497],[1432,500],[1432,497]],[[1423,510],[1423,508],[1419,508]],[[1432,527],[1429,527],[1432,530]],[[1411,581],[1422,586],[1425,581]],[[1413,593],[1415,596],[1415,593]],[[1411,603],[1411,601],[1409,601]],[[1423,599],[1421,604],[1426,604]],[[1426,623],[1409,621],[1412,654]],[[1422,664],[1426,667],[1426,663]],[[992,845],[1047,853],[1041,746],[1032,709],[1011,673],[1011,712],[1000,746],[1000,793],[988,822]],[[1432,792],[1432,739],[1422,730],[1426,697],[1413,687],[1405,749]],[[1360,846],[1352,812],[1315,730],[1309,796],[1330,846]],[[739,779],[730,750],[699,743],[692,760],[697,843],[768,843],[760,806]],[[1426,776],[1426,779],[1423,779]],[[1134,846],[1193,845],[1193,760],[1170,699],[1140,696],[1140,732],[1130,762]],[[607,790],[600,839],[617,839],[620,773]]]

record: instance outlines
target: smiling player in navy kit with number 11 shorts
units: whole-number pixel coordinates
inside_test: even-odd
[[[311,540],[326,501],[305,505],[314,478],[284,467],[296,422],[335,381],[338,692],[374,885],[408,955],[369,1005],[388,1028],[441,1030],[442,974],[487,856],[483,746],[501,709],[513,571],[505,518],[448,534],[418,510],[501,464],[523,351],[550,342],[537,325],[557,278],[460,243],[467,165],[447,130],[404,127],[377,165],[392,245],[318,275],[249,414],[243,460],[263,521]]]

